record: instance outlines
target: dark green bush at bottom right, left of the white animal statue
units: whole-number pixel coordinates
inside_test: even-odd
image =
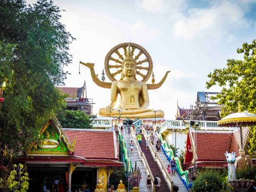
[[[221,191],[223,178],[221,173],[216,170],[204,170],[198,173],[198,177],[193,182],[192,191]]]

